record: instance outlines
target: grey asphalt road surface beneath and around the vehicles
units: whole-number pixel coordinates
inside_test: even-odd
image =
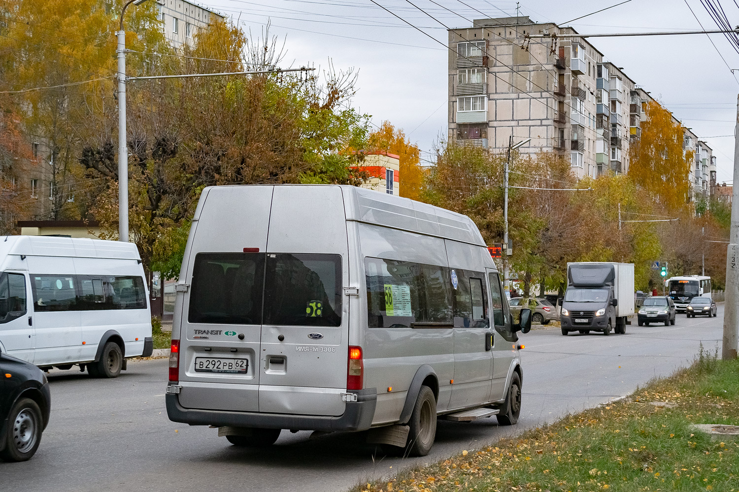
[[[41,447],[28,462],[0,462],[3,491],[344,491],[398,468],[449,457],[463,449],[551,422],[568,412],[633,392],[669,375],[698,353],[721,344],[717,318],[675,326],[627,326],[626,335],[562,336],[559,328],[521,337],[523,406],[517,426],[494,418],[474,423],[440,421],[432,454],[402,460],[376,454],[358,434],[287,430],[271,448],[230,446],[216,429],[168,420],[164,406],[167,361],[129,364],[120,378],[53,371],[52,415]]]

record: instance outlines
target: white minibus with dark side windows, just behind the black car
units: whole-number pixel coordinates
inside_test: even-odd
[[[115,378],[151,356],[148,298],[133,243],[0,236],[0,352]]]

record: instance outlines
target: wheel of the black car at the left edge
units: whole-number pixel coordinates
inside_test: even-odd
[[[18,400],[8,414],[5,446],[0,451],[0,458],[6,461],[30,460],[41,443],[43,426],[38,403],[30,398]]]

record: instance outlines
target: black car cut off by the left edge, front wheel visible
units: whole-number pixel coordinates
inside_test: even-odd
[[[0,353],[0,458],[30,460],[41,443],[50,410],[51,394],[44,371]]]

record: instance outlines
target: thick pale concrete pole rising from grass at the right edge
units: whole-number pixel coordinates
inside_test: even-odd
[[[734,128],[734,179],[739,179],[739,96],[737,122]],[[739,181],[736,181],[739,182]],[[739,330],[739,187],[732,191],[732,223],[729,229],[729,247],[726,251],[726,301],[723,305],[723,340],[721,358],[737,358],[737,331]]]

